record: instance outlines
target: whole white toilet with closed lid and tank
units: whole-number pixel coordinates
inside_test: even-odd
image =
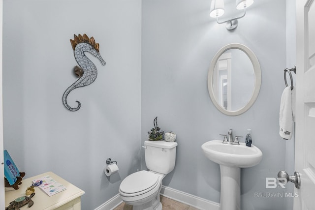
[[[119,186],[121,199],[132,205],[132,210],[162,210],[159,192],[162,179],[175,167],[176,146],[176,142],[144,142],[142,147],[150,171],[130,174]]]

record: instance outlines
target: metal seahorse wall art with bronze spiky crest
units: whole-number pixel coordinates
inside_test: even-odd
[[[78,106],[76,108],[72,108],[67,103],[67,96],[70,93],[70,91],[84,87],[87,85],[92,84],[96,77],[97,77],[97,69],[95,64],[88,59],[88,57],[85,55],[86,52],[91,53],[93,56],[95,56],[102,65],[105,65],[106,62],[102,59],[102,57],[99,54],[99,44],[95,43],[95,40],[93,36],[89,38],[86,34],[79,34],[78,36],[74,34],[73,40],[70,39],[72,49],[74,51],[74,57],[79,66],[74,67],[74,73],[79,78],[77,81],[75,81],[67,90],[63,93],[63,105],[66,109],[70,111],[77,111],[81,107],[81,103],[79,101],[76,101],[78,103]]]

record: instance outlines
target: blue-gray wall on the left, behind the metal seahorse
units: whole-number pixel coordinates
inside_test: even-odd
[[[70,92],[82,105],[70,112],[74,33],[94,36],[106,65],[91,58],[97,79]],[[140,112],[141,0],[4,0],[4,149],[27,177],[53,171],[86,192],[83,210],[101,205],[140,167]]]

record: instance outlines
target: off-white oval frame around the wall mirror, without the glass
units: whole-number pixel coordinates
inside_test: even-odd
[[[213,91],[213,87],[212,87],[212,81],[213,81],[213,72],[216,66],[216,63],[218,61],[218,59],[220,58],[220,56],[227,50],[229,49],[239,49],[241,51],[243,51],[252,61],[252,66],[254,69],[254,75],[255,75],[255,83],[254,83],[254,90],[252,91],[252,97],[250,99],[250,101],[241,109],[236,110],[236,111],[227,111],[225,110],[223,107],[221,107],[221,105],[218,103],[214,91]],[[258,97],[258,93],[260,90],[260,86],[261,86],[261,69],[260,69],[260,65],[258,62],[257,57],[255,56],[255,54],[252,52],[252,50],[250,50],[248,47],[246,47],[245,45],[242,44],[237,44],[237,43],[233,43],[233,44],[228,44],[224,47],[222,47],[218,53],[215,55],[215,57],[212,59],[209,70],[208,70],[208,91],[209,91],[209,95],[210,98],[213,102],[213,104],[216,106],[216,108],[222,112],[225,115],[228,116],[237,116],[237,115],[241,115],[244,112],[246,112],[247,110],[249,110],[252,106],[252,104],[255,102],[255,100]]]

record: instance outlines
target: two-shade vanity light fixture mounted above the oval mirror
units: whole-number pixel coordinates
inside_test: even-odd
[[[225,23],[227,30],[234,30],[238,25],[238,19],[242,18],[246,14],[246,9],[252,5],[254,0],[236,0],[236,9],[244,10],[242,16],[237,18],[231,18],[227,21],[220,22],[218,19],[224,14],[224,1],[223,0],[212,0],[210,7],[210,17],[216,18],[218,24]]]

